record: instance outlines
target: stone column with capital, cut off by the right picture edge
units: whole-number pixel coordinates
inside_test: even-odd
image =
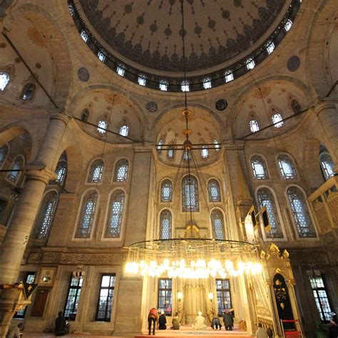
[[[338,111],[331,101],[318,103],[314,111],[327,137],[327,148],[332,155],[334,171],[338,173]]]

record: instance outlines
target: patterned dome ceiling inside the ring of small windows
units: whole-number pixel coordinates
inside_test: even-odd
[[[183,71],[180,0],[76,2],[96,39],[122,61],[153,73]],[[285,2],[183,0],[186,70],[203,72],[245,56],[276,28]]]

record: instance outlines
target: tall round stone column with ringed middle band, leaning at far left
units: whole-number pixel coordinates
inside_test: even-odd
[[[27,167],[26,182],[16,205],[11,225],[6,232],[0,252],[0,285],[16,282],[26,244],[31,234],[41,198],[49,180],[56,178],[51,168],[61,143],[68,118],[54,113],[41,142],[34,165]]]

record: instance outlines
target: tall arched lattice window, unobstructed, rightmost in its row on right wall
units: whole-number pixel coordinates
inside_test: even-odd
[[[288,188],[287,198],[299,237],[316,237],[302,190],[295,186]]]

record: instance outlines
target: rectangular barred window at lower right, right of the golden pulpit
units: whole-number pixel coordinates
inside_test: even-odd
[[[322,279],[322,276],[310,276],[309,281],[311,283],[320,319],[324,322],[328,322],[332,316],[332,309],[329,304],[329,297],[327,297],[324,280]]]

